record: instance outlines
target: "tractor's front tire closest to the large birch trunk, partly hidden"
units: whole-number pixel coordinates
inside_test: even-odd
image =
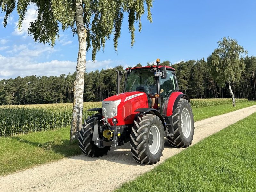
[[[92,140],[94,119],[96,117],[99,121],[102,119],[101,114],[96,114],[91,117],[88,117],[88,119],[85,120],[83,127],[79,131],[78,135],[79,147],[81,148],[82,153],[90,157],[99,157],[107,155],[108,151],[110,150],[109,146],[99,148],[97,145],[94,144],[95,141]],[[102,124],[99,123],[98,127],[100,127],[101,125]]]

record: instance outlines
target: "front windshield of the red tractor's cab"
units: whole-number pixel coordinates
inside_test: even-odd
[[[127,74],[124,92],[142,91],[156,94],[156,78],[151,68],[134,69]]]

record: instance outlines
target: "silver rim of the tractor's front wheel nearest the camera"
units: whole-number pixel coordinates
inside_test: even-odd
[[[153,143],[151,145],[148,143],[148,147],[149,147],[150,152],[153,155],[155,155],[159,151],[160,144],[161,144],[160,131],[156,125],[153,125],[150,128],[149,135],[150,134],[153,136]]]

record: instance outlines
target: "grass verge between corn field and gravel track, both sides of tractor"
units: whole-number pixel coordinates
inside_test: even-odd
[[[198,121],[240,108],[255,105],[256,102],[193,109]],[[70,127],[56,130],[32,132],[26,135],[0,137],[0,175],[45,164],[54,160],[80,154],[78,143],[69,143]]]

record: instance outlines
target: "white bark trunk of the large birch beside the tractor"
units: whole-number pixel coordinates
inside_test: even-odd
[[[82,0],[76,0],[76,32],[78,35],[79,50],[76,65],[76,79],[74,81],[74,102],[70,129],[70,142],[77,139],[78,131],[83,120],[84,73],[86,63],[86,31],[83,19]]]

